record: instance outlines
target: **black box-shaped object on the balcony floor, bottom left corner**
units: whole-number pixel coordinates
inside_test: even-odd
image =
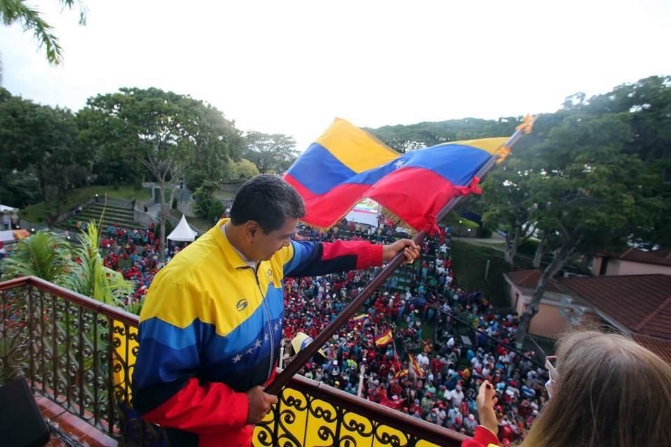
[[[49,427],[23,376],[0,387],[0,445],[41,447],[49,442]]]

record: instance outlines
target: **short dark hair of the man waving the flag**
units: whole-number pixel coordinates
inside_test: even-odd
[[[231,205],[231,222],[256,221],[264,233],[282,228],[284,220],[305,216],[303,198],[276,175],[257,175],[238,189]]]

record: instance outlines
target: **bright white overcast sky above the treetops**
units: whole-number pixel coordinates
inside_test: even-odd
[[[79,110],[120,87],[208,101],[305,149],[331,124],[554,112],[566,96],[671,75],[671,1],[29,1],[64,47],[0,26],[2,85]]]

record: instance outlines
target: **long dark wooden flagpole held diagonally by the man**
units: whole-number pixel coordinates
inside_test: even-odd
[[[503,144],[502,149],[507,149],[510,150],[510,147],[512,147],[524,133],[529,133],[531,132],[531,127],[533,125],[533,118],[532,117],[525,117],[524,123],[520,124],[517,126],[517,130],[506,140],[506,142]],[[489,171],[496,165],[496,162],[499,159],[498,154],[494,154],[489,158],[489,160],[480,168],[477,173],[475,173],[475,177],[478,179],[483,179]],[[436,223],[439,223],[442,221],[442,219],[447,216],[447,213],[452,211],[456,205],[463,200],[465,196],[458,196],[458,197],[453,197],[452,199],[449,200],[449,202],[442,207],[442,210],[438,212],[438,215],[435,218]],[[412,240],[417,245],[421,245],[421,242],[424,241],[426,236],[428,236],[428,230],[421,230],[419,233],[414,235]],[[398,267],[403,264],[405,261],[405,256],[403,255],[403,251],[398,253],[394,259],[392,259],[389,264],[385,268],[382,269],[380,274],[377,275],[373,279],[373,281],[370,281],[370,283],[363,288],[363,291],[359,293],[359,296],[354,298],[352,302],[349,303],[345,309],[340,312],[340,314],[335,317],[331,323],[329,323],[324,330],[315,337],[315,339],[308,344],[308,346],[305,346],[304,349],[301,349],[301,351],[298,351],[296,354],[296,357],[294,360],[287,365],[285,369],[280,372],[280,374],[277,374],[275,377],[275,380],[273,383],[270,383],[270,385],[266,388],[266,393],[268,394],[277,394],[280,392],[282,387],[284,387],[287,383],[289,383],[289,380],[291,380],[291,377],[294,376],[298,372],[298,369],[301,369],[303,365],[305,365],[306,362],[308,362],[308,359],[310,357],[314,356],[315,353],[317,352],[318,349],[320,349],[326,342],[331,339],[333,334],[335,332],[338,332],[340,328],[342,328],[343,325],[349,321],[349,318],[352,318],[352,316],[356,313],[356,311],[363,305],[363,302],[365,302],[370,295],[373,295],[373,292],[377,290],[382,284],[384,284],[384,281],[387,281],[387,279],[391,276],[392,273],[394,273],[394,270],[396,270]]]

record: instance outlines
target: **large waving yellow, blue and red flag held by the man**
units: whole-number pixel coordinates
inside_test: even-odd
[[[371,198],[415,230],[435,228],[455,196],[478,192],[475,174],[491,156],[505,156],[507,138],[449,142],[399,154],[344,119],[284,175],[305,200],[305,223],[329,228],[362,198]]]

